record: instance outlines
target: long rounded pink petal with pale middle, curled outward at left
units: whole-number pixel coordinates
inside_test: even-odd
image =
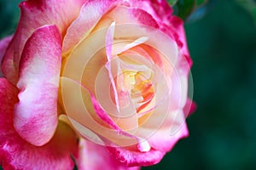
[[[31,144],[46,144],[55,133],[60,70],[61,35],[56,26],[41,27],[20,59],[20,102],[14,116],[16,131]]]

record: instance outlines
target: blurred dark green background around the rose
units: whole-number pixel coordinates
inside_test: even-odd
[[[256,20],[241,5],[249,1],[209,0],[186,20],[197,104],[190,135],[144,170],[256,169]],[[0,38],[15,31],[19,2],[0,0]]]

